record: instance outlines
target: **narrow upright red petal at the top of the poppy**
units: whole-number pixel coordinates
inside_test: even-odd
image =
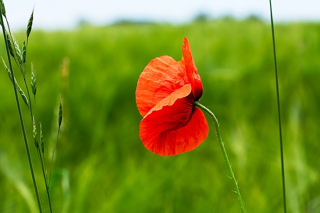
[[[182,60],[181,62],[179,61],[179,63],[180,64],[184,63],[188,82],[191,83],[192,92],[194,94],[195,100],[197,101],[200,99],[202,95],[203,86],[202,86],[200,75],[197,71],[197,68],[192,58],[189,41],[186,37],[183,37],[182,55],[183,55]]]

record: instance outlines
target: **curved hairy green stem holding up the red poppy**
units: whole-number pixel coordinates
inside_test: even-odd
[[[217,138],[218,138],[218,140],[219,140],[219,144],[220,144],[220,147],[221,147],[221,150],[222,150],[222,153],[223,153],[223,157],[224,157],[226,166],[227,166],[227,168],[228,168],[228,170],[229,170],[230,177],[231,177],[232,182],[233,182],[234,192],[236,193],[236,196],[237,196],[237,198],[238,198],[241,212],[244,213],[245,210],[244,210],[243,201],[242,201],[242,198],[241,198],[241,195],[240,195],[240,191],[239,191],[238,184],[237,184],[237,182],[236,182],[236,180],[235,180],[235,177],[234,177],[234,174],[233,174],[233,171],[232,171],[232,168],[231,168],[231,164],[230,164],[230,162],[229,162],[228,156],[227,156],[226,151],[225,151],[225,148],[224,148],[224,143],[222,142],[222,138],[221,138],[221,134],[220,134],[220,128],[219,128],[218,120],[216,119],[216,117],[214,116],[214,114],[212,113],[212,111],[210,111],[210,110],[209,110],[207,107],[205,107],[204,105],[200,104],[200,103],[197,102],[197,101],[194,102],[194,105],[197,106],[197,107],[199,107],[200,109],[204,110],[206,113],[208,113],[208,114],[210,115],[210,117],[212,117],[212,119],[213,119],[213,121],[214,121],[215,129],[216,129],[216,135],[217,135]]]

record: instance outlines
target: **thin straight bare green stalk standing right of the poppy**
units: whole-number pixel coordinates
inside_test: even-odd
[[[277,103],[277,111],[278,111],[278,125],[279,125],[279,137],[280,137],[283,211],[284,211],[284,213],[286,213],[285,178],[284,178],[284,160],[283,160],[283,144],[282,144],[282,130],[281,130],[279,80],[278,80],[278,69],[277,69],[277,65],[276,65],[275,39],[274,39],[274,28],[273,28],[273,17],[272,17],[271,0],[269,0],[269,2],[270,2],[271,32],[272,32],[272,46],[273,46],[273,61],[274,61],[274,72],[275,72],[276,103]]]

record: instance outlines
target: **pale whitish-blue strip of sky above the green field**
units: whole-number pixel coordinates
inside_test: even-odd
[[[257,15],[269,20],[269,0],[3,0],[12,29],[24,29],[34,6],[33,28],[71,29],[79,21],[96,25],[117,20],[183,23],[210,17]],[[320,21],[320,0],[273,0],[274,21]]]

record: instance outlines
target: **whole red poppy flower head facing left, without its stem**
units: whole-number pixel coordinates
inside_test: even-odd
[[[203,112],[194,107],[203,87],[189,41],[183,38],[182,59],[164,55],[152,59],[139,76],[135,100],[143,119],[139,136],[159,155],[175,155],[196,148],[208,134]]]

